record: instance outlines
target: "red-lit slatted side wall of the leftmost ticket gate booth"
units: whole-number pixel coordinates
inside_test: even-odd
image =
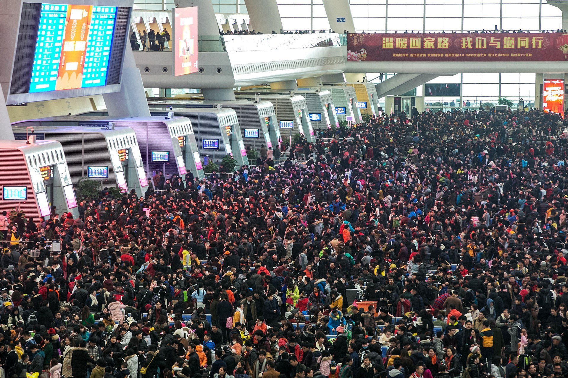
[[[12,148],[0,149],[2,162],[10,169],[0,170],[0,186],[26,186],[27,200],[26,201],[4,201],[0,197],[0,211],[7,211],[10,213],[12,209],[26,213],[26,218],[32,217],[35,221],[39,219],[39,211],[37,209],[37,201],[34,195],[34,186],[28,175],[28,167],[26,166],[26,159],[20,150]],[[14,177],[14,172],[20,172],[18,177]],[[2,190],[2,188],[0,188]]]

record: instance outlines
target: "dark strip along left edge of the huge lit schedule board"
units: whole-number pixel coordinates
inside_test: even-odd
[[[30,90],[40,13],[41,3],[22,3],[22,18],[10,83],[11,95],[27,93]]]

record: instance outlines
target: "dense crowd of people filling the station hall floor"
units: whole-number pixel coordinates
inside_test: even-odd
[[[373,117],[306,163],[5,213],[3,376],[566,377],[566,126]]]

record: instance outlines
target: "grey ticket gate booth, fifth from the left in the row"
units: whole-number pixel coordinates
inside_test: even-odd
[[[150,101],[149,103],[149,106],[153,108],[165,109],[166,106],[171,106],[177,116],[186,116],[185,112],[190,112],[191,108],[216,109],[219,105],[222,109],[229,108],[235,111],[245,148],[250,146],[260,150],[261,145],[274,148],[281,141],[274,106],[269,101],[204,101],[176,97],[173,100]]]

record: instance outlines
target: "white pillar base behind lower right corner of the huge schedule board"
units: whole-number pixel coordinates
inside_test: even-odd
[[[130,46],[129,46],[130,47]],[[150,109],[140,70],[134,53],[127,48],[124,54],[120,92],[103,94],[108,115],[112,117],[149,117]]]

